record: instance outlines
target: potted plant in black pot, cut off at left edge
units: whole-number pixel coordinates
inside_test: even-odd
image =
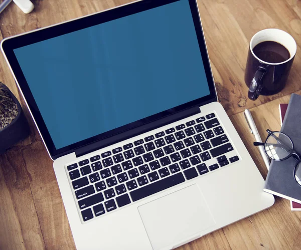
[[[0,82],[0,154],[29,135],[21,105],[9,88]]]

